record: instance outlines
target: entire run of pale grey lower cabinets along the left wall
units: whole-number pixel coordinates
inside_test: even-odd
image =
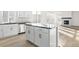
[[[18,24],[0,25],[0,38],[17,35],[18,32]]]

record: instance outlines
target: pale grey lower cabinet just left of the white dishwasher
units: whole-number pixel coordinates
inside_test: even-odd
[[[4,37],[17,35],[19,32],[18,24],[4,25]]]

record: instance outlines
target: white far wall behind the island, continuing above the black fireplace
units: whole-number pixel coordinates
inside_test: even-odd
[[[61,18],[72,17],[72,11],[41,11],[40,15],[40,23],[61,25],[63,22]]]

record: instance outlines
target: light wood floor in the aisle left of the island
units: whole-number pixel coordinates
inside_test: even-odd
[[[35,47],[26,40],[25,34],[0,39],[0,47]]]

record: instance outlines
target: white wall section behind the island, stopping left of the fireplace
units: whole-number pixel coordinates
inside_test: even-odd
[[[48,23],[48,24],[60,24],[61,12],[55,11],[42,11],[40,17],[40,23]]]

